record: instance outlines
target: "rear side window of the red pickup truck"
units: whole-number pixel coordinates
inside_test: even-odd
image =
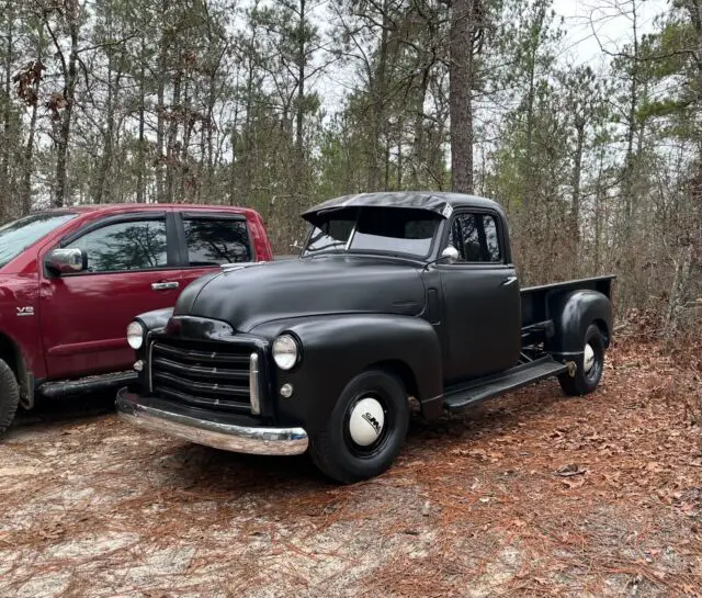
[[[183,219],[190,266],[222,266],[251,261],[249,230],[244,219]]]

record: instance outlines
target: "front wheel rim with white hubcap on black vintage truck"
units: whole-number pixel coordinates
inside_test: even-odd
[[[351,453],[362,459],[378,454],[387,443],[392,424],[381,395],[364,393],[356,397],[343,421],[343,437]]]

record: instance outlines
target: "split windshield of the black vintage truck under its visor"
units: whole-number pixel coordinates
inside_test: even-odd
[[[312,232],[303,256],[358,251],[426,258],[440,216],[426,210],[362,207],[332,211]]]

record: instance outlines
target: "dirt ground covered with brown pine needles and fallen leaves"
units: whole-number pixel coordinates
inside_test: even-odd
[[[353,486],[44,406],[0,442],[0,597],[702,596],[693,359],[621,343],[589,397],[417,418]]]

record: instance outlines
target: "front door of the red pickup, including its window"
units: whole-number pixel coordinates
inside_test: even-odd
[[[42,275],[49,377],[131,369],[127,325],[137,314],[173,306],[182,289],[178,237],[171,208],[141,210],[105,216],[57,246],[86,251],[88,269]]]

